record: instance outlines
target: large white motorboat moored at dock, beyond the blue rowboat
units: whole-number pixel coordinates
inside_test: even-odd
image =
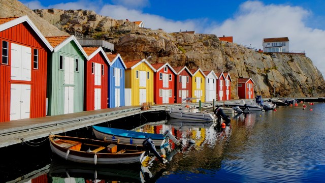
[[[189,102],[191,100],[195,100],[199,98],[185,98],[183,101]],[[208,111],[200,111],[196,107],[191,107],[192,105],[186,104],[181,107],[172,107],[166,108],[165,111],[170,118],[175,119],[186,119],[186,120],[194,120],[194,121],[216,121],[215,115],[213,112]]]

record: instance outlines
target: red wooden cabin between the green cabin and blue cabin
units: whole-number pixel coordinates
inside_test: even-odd
[[[83,47],[88,55],[85,64],[84,110],[108,107],[109,59],[102,47]]]

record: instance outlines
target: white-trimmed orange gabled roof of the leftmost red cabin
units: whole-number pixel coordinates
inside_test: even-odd
[[[20,23],[27,22],[28,25],[33,29],[33,31],[37,34],[37,36],[43,41],[43,43],[49,48],[50,51],[53,51],[53,47],[51,44],[46,40],[40,30],[35,26],[35,24],[28,18],[28,16],[21,16],[21,17],[11,17],[11,18],[1,18],[0,20],[0,32],[18,25]]]

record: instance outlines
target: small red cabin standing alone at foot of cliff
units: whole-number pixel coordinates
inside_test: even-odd
[[[238,78],[238,97],[240,99],[254,99],[254,84],[251,78]]]

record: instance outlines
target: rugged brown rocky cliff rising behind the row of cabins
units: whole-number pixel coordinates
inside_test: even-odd
[[[86,10],[34,10],[59,29],[79,32],[114,43],[114,52],[124,60],[200,67],[229,72],[232,96],[237,96],[237,79],[251,77],[255,95],[263,97],[323,97],[324,79],[312,60],[301,54],[259,53],[236,43],[221,42],[216,35],[166,33],[139,28],[127,20],[114,20]]]

